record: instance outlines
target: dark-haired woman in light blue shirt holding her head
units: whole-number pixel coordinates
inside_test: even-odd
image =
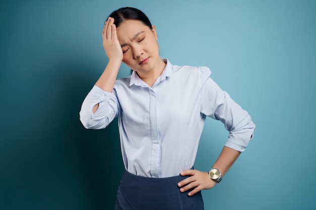
[[[119,118],[125,171],[116,209],[204,209],[202,189],[222,180],[253,135],[249,114],[210,79],[207,67],[173,65],[159,55],[156,28],[141,11],[114,11],[102,31],[109,62],[83,101],[84,127]],[[121,63],[132,69],[116,79]],[[193,169],[205,117],[230,134],[208,172]]]

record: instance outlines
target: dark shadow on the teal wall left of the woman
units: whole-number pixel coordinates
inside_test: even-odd
[[[79,121],[96,81],[88,69],[60,63],[26,86],[21,129],[8,126],[8,141],[1,143],[1,209],[113,208],[124,169],[117,119],[102,130],[87,130]]]

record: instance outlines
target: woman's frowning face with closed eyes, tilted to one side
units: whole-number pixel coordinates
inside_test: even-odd
[[[150,29],[141,21],[127,20],[117,28],[123,51],[123,62],[138,74],[152,71],[159,60],[155,27]]]

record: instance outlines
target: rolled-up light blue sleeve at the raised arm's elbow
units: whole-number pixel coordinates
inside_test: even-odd
[[[99,104],[93,113],[93,107]],[[120,105],[115,92],[105,92],[97,86],[93,86],[84,99],[79,112],[80,121],[85,128],[105,128],[118,116]]]

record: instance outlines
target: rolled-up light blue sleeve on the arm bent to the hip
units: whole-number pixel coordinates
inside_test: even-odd
[[[221,120],[229,131],[225,146],[244,152],[253,137],[255,124],[247,111],[243,110],[225,91],[207,78],[200,92],[201,113]]]

